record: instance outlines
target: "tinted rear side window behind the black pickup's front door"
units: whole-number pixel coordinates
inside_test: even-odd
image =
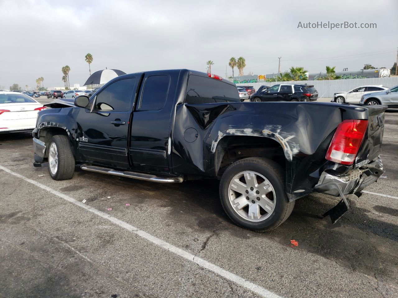
[[[168,75],[151,75],[145,81],[139,105],[140,111],[161,110],[166,103],[170,86]]]

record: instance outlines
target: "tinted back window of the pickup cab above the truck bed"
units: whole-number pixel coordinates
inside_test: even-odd
[[[205,103],[238,103],[240,102],[238,89],[210,77],[190,75],[185,96],[187,104]]]

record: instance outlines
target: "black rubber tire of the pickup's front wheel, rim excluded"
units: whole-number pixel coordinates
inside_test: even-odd
[[[49,157],[49,172],[51,178],[54,180],[68,180],[72,179],[75,167],[75,159],[70,148],[70,142],[66,135],[54,135],[47,144],[48,151],[51,150],[51,145],[55,144],[58,152],[58,167],[55,173],[51,172],[50,157]],[[48,152],[50,155],[50,152]]]

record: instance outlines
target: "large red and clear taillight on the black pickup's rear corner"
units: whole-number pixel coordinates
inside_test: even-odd
[[[337,127],[326,159],[341,164],[353,164],[368,127],[368,120],[344,120]]]

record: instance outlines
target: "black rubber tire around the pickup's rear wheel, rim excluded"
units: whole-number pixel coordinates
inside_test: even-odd
[[[254,171],[263,175],[275,191],[275,208],[263,221],[252,222],[244,219],[233,209],[229,199],[229,184],[232,178],[243,171]],[[285,192],[285,173],[279,164],[269,159],[250,157],[231,164],[224,172],[220,182],[220,199],[228,217],[242,228],[265,232],[281,225],[291,215],[295,201],[289,202]]]

